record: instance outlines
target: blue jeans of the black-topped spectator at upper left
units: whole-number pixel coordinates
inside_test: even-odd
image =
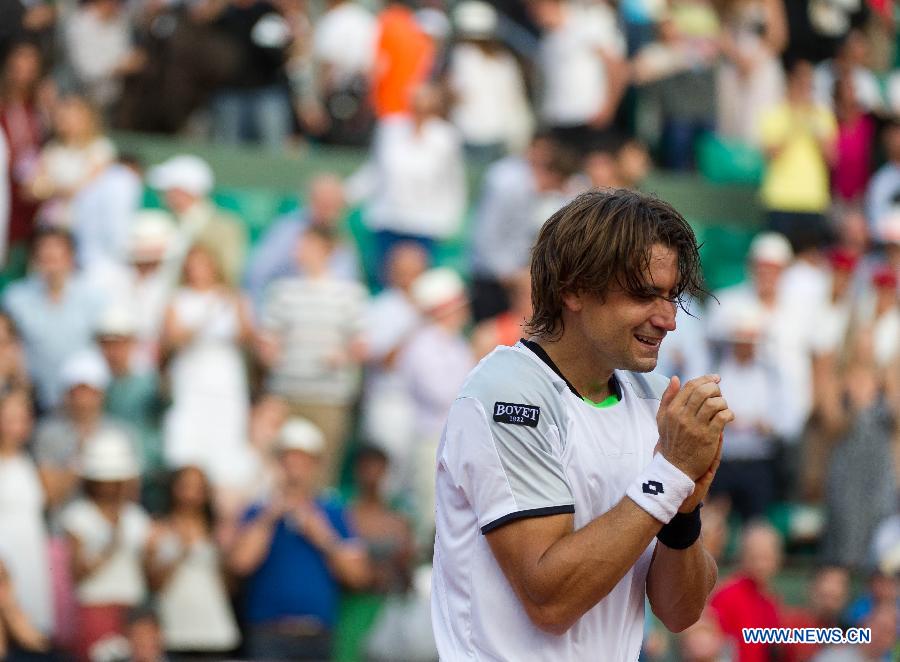
[[[213,98],[212,111],[213,138],[225,144],[281,149],[293,128],[291,102],[281,85],[223,90]]]

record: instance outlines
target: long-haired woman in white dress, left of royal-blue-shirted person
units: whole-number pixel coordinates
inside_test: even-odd
[[[166,649],[178,655],[225,653],[240,642],[213,539],[209,484],[197,467],[172,477],[169,512],[154,525],[147,577],[157,591]]]

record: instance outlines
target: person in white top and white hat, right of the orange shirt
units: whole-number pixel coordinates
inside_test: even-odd
[[[534,120],[515,57],[497,39],[497,11],[466,0],[453,12],[457,42],[450,51],[448,83],[467,152],[485,161],[521,152]]]

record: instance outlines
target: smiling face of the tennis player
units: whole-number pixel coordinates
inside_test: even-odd
[[[572,331],[587,341],[598,367],[637,372],[656,367],[662,339],[675,330],[671,297],[678,283],[678,260],[673,249],[654,244],[646,282],[654,296],[637,297],[617,286],[603,300],[591,294],[567,295],[566,305],[575,314],[566,321],[566,330],[574,325]]]

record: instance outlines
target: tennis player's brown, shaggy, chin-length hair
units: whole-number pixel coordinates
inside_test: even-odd
[[[626,189],[582,193],[544,223],[531,251],[533,314],[525,330],[548,340],[563,333],[563,294],[602,299],[612,285],[635,297],[656,296],[647,280],[654,244],[678,259],[677,303],[700,297],[703,276],[694,231],[672,205]]]

